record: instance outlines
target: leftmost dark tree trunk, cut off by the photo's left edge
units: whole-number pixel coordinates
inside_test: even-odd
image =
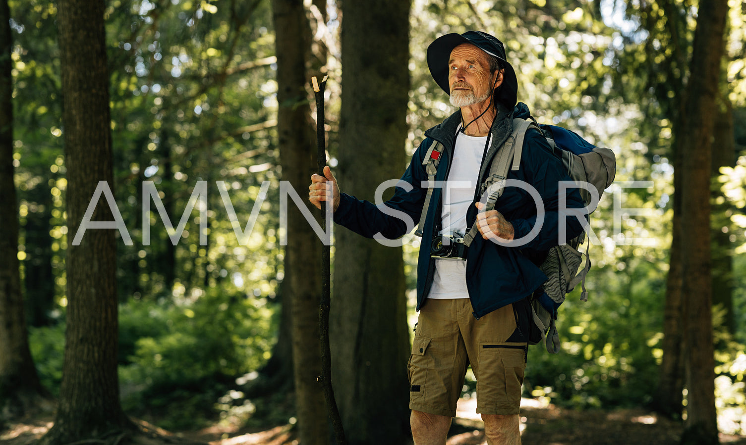
[[[10,10],[0,1],[0,429],[4,417],[32,408],[43,394],[28,350],[18,262],[18,202],[13,183],[13,62]]]

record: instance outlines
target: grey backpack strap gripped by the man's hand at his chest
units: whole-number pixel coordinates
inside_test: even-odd
[[[513,133],[508,136],[504,145],[492,158],[492,162],[489,165],[489,176],[482,183],[480,194],[484,195],[489,192],[487,203],[484,207],[484,211],[489,211],[495,208],[495,203],[503,194],[505,189],[504,180],[508,176],[508,171],[518,170],[521,165],[521,153],[523,152],[523,142],[526,136],[526,131],[529,127],[539,128],[536,123],[531,119],[513,119]],[[463,238],[463,243],[467,246],[471,245],[474,238],[479,234],[476,222],[471,225],[471,228]]]

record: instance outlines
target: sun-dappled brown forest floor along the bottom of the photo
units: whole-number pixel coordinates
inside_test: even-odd
[[[483,424],[479,414],[474,414],[474,406],[473,401],[460,401],[458,417],[448,434],[448,445],[486,444]],[[34,444],[51,427],[52,420],[53,417],[46,414],[11,424],[9,428],[0,431],[0,444]],[[294,429],[289,424],[251,430],[211,426],[199,431],[171,433],[144,421],[139,423],[141,428],[157,433],[157,436],[117,442],[122,445],[298,444]],[[524,400],[521,407],[521,436],[522,442],[529,445],[677,445],[681,438],[681,425],[660,419],[642,409],[574,411],[554,405],[541,406],[533,400]],[[746,436],[721,435],[720,441],[721,444],[746,445]]]

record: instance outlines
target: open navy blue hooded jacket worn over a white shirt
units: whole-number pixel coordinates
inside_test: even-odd
[[[503,145],[512,132],[513,118],[527,118],[528,108],[519,103],[514,110],[508,110],[498,104],[498,117],[492,123],[492,137],[488,156]],[[384,203],[389,209],[381,211],[369,201],[360,201],[353,196],[342,193],[339,207],[334,212],[334,221],[359,233],[373,238],[380,233],[387,239],[398,239],[413,230],[407,227],[402,218],[392,215],[392,209],[404,212],[412,218],[414,224],[420,219],[427,188],[422,181],[427,181],[427,173],[422,161],[433,140],[437,140],[445,150],[438,165],[436,180],[446,180],[451,159],[454,154],[456,131],[461,123],[461,112],[457,111],[441,124],[425,132],[427,136],[415,151],[407,171],[401,180],[412,187],[409,192],[397,186],[394,196]],[[474,203],[480,198],[479,184],[488,175],[487,165],[482,165]],[[545,208],[544,224],[530,242],[521,247],[506,247],[495,244],[477,236],[468,248],[466,262],[466,286],[474,316],[477,318],[489,312],[507,306],[510,303],[529,296],[547,277],[534,262],[545,256],[545,251],[558,244],[559,181],[570,180],[562,161],[553,154],[544,136],[538,130],[530,128],[524,139],[521,165],[517,171],[510,171],[508,179],[522,180],[533,186],[542,197]],[[407,187],[409,189],[410,187]],[[433,283],[435,259],[430,257],[430,242],[438,233],[442,212],[442,189],[433,189],[430,208],[425,220],[422,243],[417,267],[417,310],[426,302],[427,294]],[[477,207],[474,203],[466,214],[467,227],[476,220]],[[583,208],[584,204],[577,189],[569,189],[568,208]],[[495,209],[513,224],[515,239],[521,238],[536,224],[536,205],[533,198],[523,189],[508,187],[498,199]],[[411,224],[411,222],[410,222]],[[577,218],[567,218],[567,238],[580,235],[582,225]]]

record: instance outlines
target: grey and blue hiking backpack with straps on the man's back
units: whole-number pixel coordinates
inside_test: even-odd
[[[555,125],[538,124],[533,120],[533,117],[530,117],[530,119],[513,119],[513,133],[510,134],[504,145],[490,161],[489,176],[480,188],[481,195],[489,193],[483,211],[487,212],[495,208],[495,203],[504,191],[504,180],[507,178],[509,169],[518,170],[520,168],[524,137],[530,127],[536,128],[545,136],[554,154],[562,160],[562,165],[567,169],[568,176],[575,183],[592,185],[594,191],[598,193],[596,197],[601,199],[604,189],[614,181],[616,165],[614,152],[609,148],[592,145],[571,130]],[[422,162],[425,165],[430,184],[435,180],[442,150],[440,142],[433,142]],[[432,191],[431,187],[427,189],[427,196],[416,232],[419,236],[422,234]],[[580,187],[579,191],[586,207],[592,204],[595,194],[583,189],[583,187]],[[596,204],[598,205],[598,201],[596,201]],[[593,210],[595,208],[590,209],[589,214],[586,215],[586,220]],[[467,246],[470,245],[478,234],[479,230],[475,223],[463,237],[463,243]],[[529,344],[545,341],[549,353],[556,354],[560,351],[560,335],[557,333],[556,320],[557,309],[565,301],[565,294],[568,294],[580,283],[583,288],[580,300],[588,300],[585,282],[586,275],[591,268],[591,261],[588,256],[590,240],[586,246],[586,264],[578,271],[583,253],[580,253],[577,248],[580,244],[583,244],[585,236],[585,230],[583,230],[580,236],[548,250],[547,256],[539,265],[548,280],[529,297],[533,315],[533,319],[530,320],[532,326],[530,326]]]

